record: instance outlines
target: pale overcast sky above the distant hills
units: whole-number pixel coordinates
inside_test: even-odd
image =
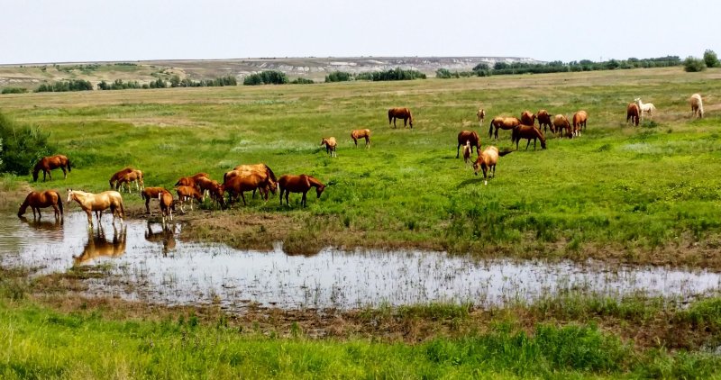
[[[718,0],[0,0],[0,64],[721,55]]]

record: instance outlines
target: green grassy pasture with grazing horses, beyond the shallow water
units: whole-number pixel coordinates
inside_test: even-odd
[[[329,184],[306,210],[256,199],[231,211],[187,216],[186,236],[235,246],[420,247],[521,257],[614,258],[721,267],[721,71],[680,68],[344,83],[4,95],[2,112],[50,131],[75,169],[37,188],[105,190],[131,165],[146,185],[171,187],[198,171],[214,178],[265,162],[279,176]],[[687,98],[704,95],[692,121]],[[625,125],[641,96],[653,122]],[[456,134],[478,130],[479,105],[494,115],[529,109],[589,112],[580,139],[549,136],[548,149],[500,159],[488,185],[455,158]],[[414,111],[415,128],[388,127],[391,106]],[[353,129],[373,131],[354,149]],[[509,132],[482,145],[509,148]],[[338,158],[320,149],[335,136]],[[30,179],[30,176],[21,179]],[[132,206],[140,198],[126,196]]]

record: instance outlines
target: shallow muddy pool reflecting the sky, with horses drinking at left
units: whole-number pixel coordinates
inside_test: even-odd
[[[574,289],[620,296],[630,293],[686,299],[715,292],[721,276],[663,267],[608,267],[599,263],[477,260],[416,250],[383,252],[323,249],[289,256],[279,244],[269,252],[178,240],[180,226],[106,216],[87,230],[84,213],[65,222],[0,217],[0,262],[38,274],[73,266],[100,266],[111,276],[88,280],[90,294],[153,303],[220,303],[240,310],[249,303],[281,308],[350,309],[381,303],[532,303]]]

